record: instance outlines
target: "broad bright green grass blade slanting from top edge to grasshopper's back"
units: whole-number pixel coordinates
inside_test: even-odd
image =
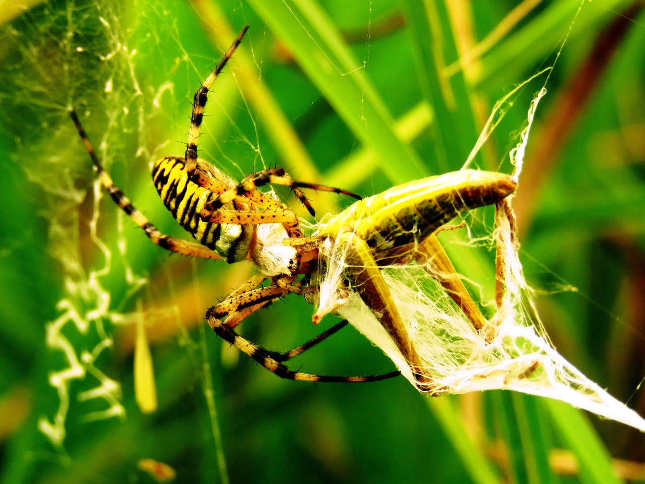
[[[364,145],[392,183],[428,175],[335,25],[313,0],[251,0],[257,14],[290,48],[297,63]]]

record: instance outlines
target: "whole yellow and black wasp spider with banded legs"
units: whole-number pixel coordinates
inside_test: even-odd
[[[240,183],[235,183],[208,162],[197,158],[197,139],[208,90],[228,59],[232,57],[246,30],[248,26],[244,26],[215,70],[195,93],[188,145],[184,156],[164,157],[157,161],[152,169],[154,185],[164,205],[197,242],[184,241],[159,232],[123,192],[115,187],[112,177],[104,170],[96,156],[74,110],[70,110],[70,116],[92,158],[103,187],[152,242],[161,248],[186,256],[223,259],[228,263],[251,259],[255,263],[259,274],[206,312],[208,323],[219,336],[281,378],[364,382],[397,376],[398,371],[377,376],[324,376],[295,372],[286,367],[285,361],[328,338],[344,327],[347,321],[338,323],[304,345],[284,353],[261,348],[239,336],[233,329],[246,316],[270,305],[275,299],[290,292],[306,294],[310,290],[310,273],[318,254],[320,239],[305,237],[299,227],[298,217],[284,203],[258,188],[267,184],[290,187],[312,216],[313,208],[301,188],[361,199],[360,196],[340,188],[295,181],[283,168],[270,168],[253,173]],[[268,281],[268,284],[262,286],[264,281]]]

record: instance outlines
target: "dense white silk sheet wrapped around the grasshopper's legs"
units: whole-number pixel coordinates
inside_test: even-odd
[[[529,126],[537,101],[539,97],[531,105]],[[511,152],[511,160],[516,166],[515,177],[521,171],[527,139],[528,127],[522,132],[519,145]],[[437,282],[441,277],[461,275],[437,274],[436,265],[430,261],[380,267],[422,368],[406,361],[382,327],[380,315],[364,302],[359,288],[348,287],[345,283],[346,253],[333,239],[328,239],[324,247],[326,263],[319,277],[320,291],[314,318],[335,312],[350,321],[422,391],[460,394],[515,390],[565,401],[645,432],[644,419],[586,378],[551,345],[522,273],[513,225],[512,210],[505,201],[505,207],[496,210],[496,228],[491,236],[501,261],[497,278],[502,282],[503,290],[496,302],[482,303],[495,307],[495,311],[488,318],[487,327],[479,331]],[[432,384],[424,387],[415,374],[429,375]]]

